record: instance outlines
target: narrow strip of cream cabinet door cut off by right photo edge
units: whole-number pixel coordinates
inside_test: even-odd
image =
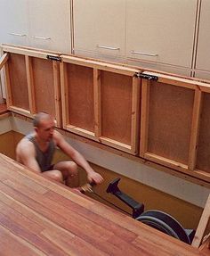
[[[198,51],[196,68],[210,70],[210,1],[202,0],[198,31]]]

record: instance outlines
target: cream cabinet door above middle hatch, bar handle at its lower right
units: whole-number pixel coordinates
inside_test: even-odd
[[[125,55],[125,0],[75,0],[75,52]]]

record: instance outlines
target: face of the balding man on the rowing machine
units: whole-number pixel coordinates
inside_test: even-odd
[[[51,118],[40,121],[39,127],[35,129],[36,135],[44,142],[48,142],[52,139],[54,131],[54,120]]]

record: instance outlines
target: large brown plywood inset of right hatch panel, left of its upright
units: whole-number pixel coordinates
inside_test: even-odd
[[[187,164],[194,90],[152,82],[148,152]]]

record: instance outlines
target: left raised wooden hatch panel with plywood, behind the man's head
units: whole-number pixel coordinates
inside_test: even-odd
[[[7,108],[28,117],[38,111],[52,114],[61,127],[60,65],[47,59],[57,54],[3,45]]]

